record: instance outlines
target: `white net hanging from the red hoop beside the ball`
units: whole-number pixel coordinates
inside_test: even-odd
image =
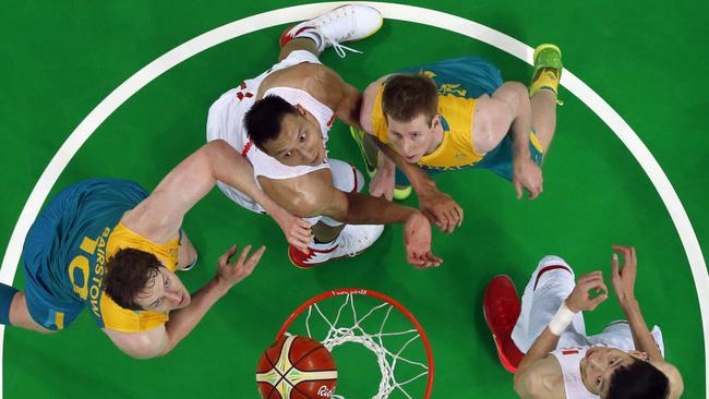
[[[333,305],[333,302],[339,303],[338,300],[343,302]],[[388,398],[394,392],[400,394],[397,397],[421,398],[419,390],[421,385],[425,389],[429,374],[425,349],[419,331],[394,305],[369,295],[344,293],[312,304],[302,318],[308,336],[321,341],[331,352],[352,342],[374,353],[382,378],[373,399]],[[293,327],[289,326],[289,331]],[[411,356],[423,360],[407,359]],[[407,391],[414,386],[416,392]],[[334,398],[345,397],[334,395]]]

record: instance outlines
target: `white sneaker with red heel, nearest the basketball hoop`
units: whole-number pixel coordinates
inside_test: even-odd
[[[382,231],[384,225],[347,225],[332,243],[311,243],[308,254],[288,245],[288,257],[293,266],[307,269],[338,257],[356,256],[372,246]]]

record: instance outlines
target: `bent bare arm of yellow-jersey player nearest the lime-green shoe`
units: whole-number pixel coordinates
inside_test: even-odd
[[[486,153],[494,148],[509,126],[513,134],[513,183],[517,198],[522,189],[534,200],[543,190],[541,168],[530,158],[529,132],[531,131],[531,102],[527,87],[519,82],[505,82],[492,97],[481,97],[476,106],[473,140],[476,149]],[[496,137],[484,144],[483,137]],[[483,148],[478,148],[482,144]]]

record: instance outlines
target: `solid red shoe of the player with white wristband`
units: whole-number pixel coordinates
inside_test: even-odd
[[[512,340],[512,330],[519,317],[520,304],[515,283],[509,277],[500,275],[492,279],[485,290],[482,312],[497,347],[502,365],[508,372],[516,373],[517,365],[525,354]]]

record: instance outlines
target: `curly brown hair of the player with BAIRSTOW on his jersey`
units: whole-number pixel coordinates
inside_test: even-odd
[[[106,262],[104,290],[119,306],[141,311],[135,299],[145,291],[148,281],[159,273],[163,264],[149,252],[135,249],[119,250]]]

